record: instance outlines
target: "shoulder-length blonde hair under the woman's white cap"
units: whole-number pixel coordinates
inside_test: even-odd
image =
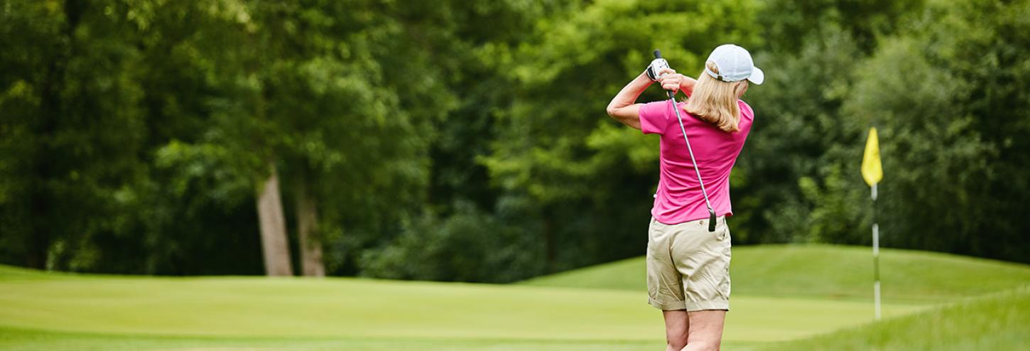
[[[709,61],[705,66],[713,73],[719,74],[719,67],[714,62]],[[723,131],[736,132],[741,130],[741,107],[737,105],[737,99],[747,91],[747,79],[722,81],[701,72],[684,109]]]

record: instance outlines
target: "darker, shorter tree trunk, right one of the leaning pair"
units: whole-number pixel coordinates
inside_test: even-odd
[[[301,270],[304,275],[324,277],[325,265],[318,240],[318,207],[303,181],[297,183],[297,236],[301,244]]]

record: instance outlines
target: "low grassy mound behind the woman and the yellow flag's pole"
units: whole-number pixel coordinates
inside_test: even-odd
[[[883,299],[941,303],[1030,284],[1030,266],[946,253],[882,249]],[[530,286],[644,290],[644,257],[540,277]],[[867,247],[761,245],[733,248],[732,294],[872,299]]]

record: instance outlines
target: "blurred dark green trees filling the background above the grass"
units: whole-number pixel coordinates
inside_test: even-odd
[[[1028,1],[0,0],[0,262],[506,282],[643,252],[661,48],[767,75],[734,244],[1030,261]],[[657,89],[643,99],[661,99]],[[263,224],[264,223],[264,224]]]

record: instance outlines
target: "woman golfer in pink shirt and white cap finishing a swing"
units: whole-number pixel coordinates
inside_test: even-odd
[[[697,80],[657,59],[608,105],[616,120],[661,135],[647,286],[649,303],[665,318],[666,350],[718,350],[722,341],[729,311],[729,172],[754,120],[751,106],[740,98],[748,80],[761,84],[763,78],[748,50],[726,44],[712,51]],[[654,81],[666,91],[682,91],[687,102],[637,103]],[[674,108],[680,110],[682,127]],[[709,231],[708,208],[684,133],[718,216],[715,232]]]

